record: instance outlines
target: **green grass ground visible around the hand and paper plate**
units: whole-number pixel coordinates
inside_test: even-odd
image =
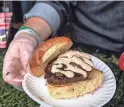
[[[4,83],[2,79],[3,56],[4,52],[0,53],[0,107],[39,107],[39,105],[32,101],[24,92],[20,92]],[[119,72],[119,69],[116,66],[117,60],[114,57],[105,58],[103,55],[97,56],[109,65],[117,78]],[[118,106],[118,101],[124,91],[124,83],[122,79],[119,84],[114,99],[104,107],[124,107],[123,104]]]

